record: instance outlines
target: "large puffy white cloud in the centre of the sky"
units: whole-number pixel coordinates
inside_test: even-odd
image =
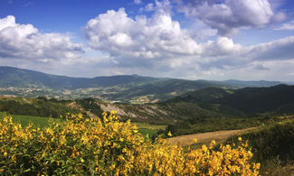
[[[124,8],[109,10],[91,19],[85,33],[91,48],[117,57],[151,60],[202,52],[189,32],[165,11],[157,11],[151,18],[141,15],[132,19]]]

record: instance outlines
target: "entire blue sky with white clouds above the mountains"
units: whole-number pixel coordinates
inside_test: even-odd
[[[0,0],[0,65],[294,81],[294,1]]]

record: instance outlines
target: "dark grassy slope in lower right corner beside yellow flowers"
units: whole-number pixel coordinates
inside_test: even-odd
[[[242,134],[248,140],[253,153],[253,160],[261,162],[261,173],[272,175],[294,174],[294,119],[263,125],[251,133]],[[225,144],[238,141],[233,136]]]

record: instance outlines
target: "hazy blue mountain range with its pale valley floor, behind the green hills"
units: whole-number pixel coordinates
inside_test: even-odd
[[[0,95],[74,99],[93,97],[103,101],[154,103],[202,88],[237,89],[270,87],[280,81],[187,80],[119,75],[96,78],[57,76],[29,69],[0,67]]]

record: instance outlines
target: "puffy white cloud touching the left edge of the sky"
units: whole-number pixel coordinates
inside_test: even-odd
[[[61,33],[42,33],[32,24],[15,23],[8,15],[0,19],[0,58],[39,61],[76,59],[81,57],[81,44]]]

